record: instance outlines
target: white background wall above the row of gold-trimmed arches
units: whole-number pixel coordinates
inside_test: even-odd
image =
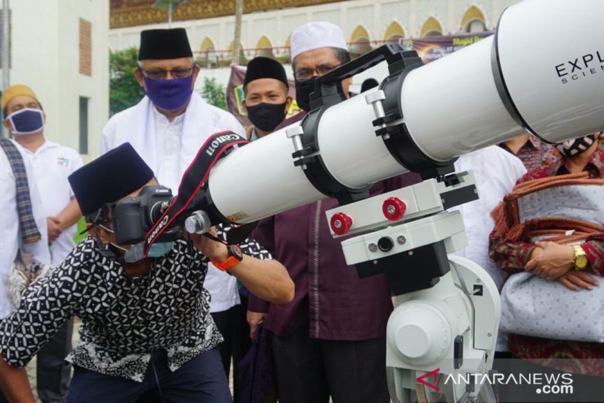
[[[406,36],[420,36],[423,23],[436,18],[445,34],[460,31],[461,18],[469,7],[476,5],[486,19],[487,28],[493,29],[501,11],[519,0],[349,0],[309,7],[285,8],[243,16],[242,43],[253,49],[262,35],[273,47],[282,47],[295,28],[309,21],[330,21],[339,25],[350,40],[353,30],[360,24],[370,34],[371,40],[383,40],[391,22],[402,25]],[[173,27],[187,29],[191,49],[198,51],[206,36],[216,45],[216,50],[226,50],[233,40],[234,16],[191,21],[176,21]],[[167,28],[166,24],[140,25],[109,31],[113,50],[138,47],[140,31],[150,28]]]

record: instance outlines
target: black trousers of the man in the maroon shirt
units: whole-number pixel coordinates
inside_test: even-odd
[[[280,403],[388,403],[386,339],[318,340],[308,324],[273,336]]]

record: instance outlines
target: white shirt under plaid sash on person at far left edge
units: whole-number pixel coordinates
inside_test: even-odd
[[[33,173],[28,155],[25,153],[23,147],[19,146],[19,144],[16,144],[16,146],[23,156],[25,172],[27,173],[28,184],[30,186],[31,210],[42,239],[34,243],[21,243],[13,169],[8,162],[4,150],[0,149],[0,195],[2,195],[0,197],[0,209],[2,211],[2,214],[0,214],[0,319],[7,317],[13,309],[4,292],[4,283],[8,279],[10,268],[17,257],[19,248],[22,248],[25,253],[31,254],[38,262],[50,263],[46,216],[42,211],[42,200],[40,199],[36,181],[31,181]]]

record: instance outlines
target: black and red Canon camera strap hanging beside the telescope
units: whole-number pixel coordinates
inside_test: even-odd
[[[161,214],[153,227],[146,234],[144,239],[144,257],[147,257],[153,242],[182,214],[199,190],[204,187],[210,176],[212,167],[218,162],[221,156],[228,150],[247,144],[238,134],[231,131],[218,132],[211,135],[204,145],[201,146],[193,162],[188,166],[184,175],[182,175],[181,184],[178,187],[178,195],[172,199],[170,205]]]

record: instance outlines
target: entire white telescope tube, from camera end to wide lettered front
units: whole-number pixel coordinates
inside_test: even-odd
[[[552,142],[604,129],[602,15],[599,0],[522,1],[504,11],[495,37],[412,70],[383,103],[398,103],[411,140],[434,161],[529,129]],[[596,73],[582,68],[586,75],[571,82],[578,71],[570,62]],[[353,189],[408,171],[376,136],[364,98],[327,108],[315,133],[327,172]],[[219,161],[209,178],[217,210],[245,224],[324,198],[294,166],[294,151],[281,129]]]

